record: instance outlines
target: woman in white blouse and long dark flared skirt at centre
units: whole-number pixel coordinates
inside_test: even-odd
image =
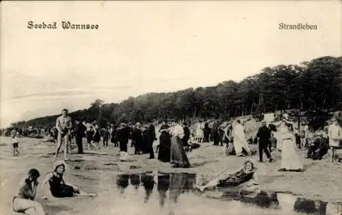
[[[190,163],[187,159],[187,154],[185,153],[183,143],[181,141],[181,137],[183,137],[183,127],[181,125],[176,125],[173,123],[173,127],[171,129],[171,160],[170,164],[174,164],[174,168],[189,168]]]

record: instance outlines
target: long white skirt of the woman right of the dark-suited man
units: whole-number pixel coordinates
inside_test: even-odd
[[[303,168],[297,153],[295,153],[295,143],[292,140],[282,142],[281,168],[286,170],[300,170]]]

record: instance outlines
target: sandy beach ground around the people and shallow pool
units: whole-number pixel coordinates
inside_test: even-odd
[[[22,138],[20,144],[21,155],[12,157],[10,138],[1,137],[0,167],[1,167],[1,214],[16,214],[12,212],[12,197],[16,192],[18,182],[26,176],[29,168],[38,168],[42,177],[51,171],[53,165],[53,151],[55,144],[33,138]],[[75,142],[73,142],[75,144]],[[146,171],[161,171],[164,173],[198,173],[215,177],[228,168],[235,170],[241,166],[246,157],[224,157],[223,148],[202,143],[199,149],[188,153],[192,168],[171,168],[170,164],[159,162],[157,159],[148,160],[145,155],[131,155],[132,162],[120,162],[117,156],[118,147],[112,144],[107,148],[84,155],[76,154],[77,149],[69,155],[68,169],[65,178],[72,184],[81,187],[86,192],[96,192],[98,197],[75,197],[56,199],[47,194],[49,200],[42,200],[38,194],[38,201],[42,202],[49,214],[124,214],[120,212],[120,201],[116,196],[116,176],[122,173],[145,173]],[[84,144],[86,147],[86,144]],[[129,147],[129,153],[133,154]],[[339,152],[341,153],[341,151]],[[278,172],[280,168],[280,153],[272,152],[274,162],[258,163],[257,173],[263,190],[291,192],[302,194],[311,199],[323,201],[342,201],[342,164],[332,163],[328,155],[321,161],[305,159],[305,151],[298,150],[300,160],[306,170],[303,173]],[[157,157],[157,155],[156,155]],[[62,153],[60,154],[62,159]],[[252,156],[257,161],[257,155]],[[114,189],[115,188],[115,189]],[[47,189],[46,189],[47,190]],[[117,202],[118,201],[118,202]],[[119,203],[119,205],[118,205]]]

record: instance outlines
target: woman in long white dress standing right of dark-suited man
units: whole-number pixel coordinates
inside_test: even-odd
[[[293,125],[285,124],[286,132],[282,135],[281,167],[278,171],[302,171],[303,165],[295,153],[295,136]]]

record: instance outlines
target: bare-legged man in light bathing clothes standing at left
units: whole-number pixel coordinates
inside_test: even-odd
[[[73,123],[71,122],[71,117],[68,116],[68,110],[63,109],[62,116],[58,117],[56,121],[56,129],[58,134],[55,160],[57,160],[58,152],[62,147],[62,142],[64,142],[64,160],[67,160],[66,151],[68,149],[71,127],[73,127]]]

